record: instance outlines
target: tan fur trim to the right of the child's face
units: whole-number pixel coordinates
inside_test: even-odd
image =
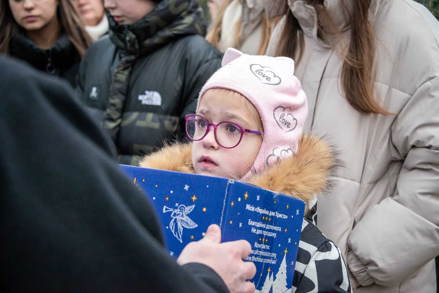
[[[309,201],[330,186],[329,178],[337,167],[331,146],[320,137],[305,134],[293,156],[253,175],[247,183],[303,200],[306,214]]]

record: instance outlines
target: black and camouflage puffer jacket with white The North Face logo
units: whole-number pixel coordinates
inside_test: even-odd
[[[175,16],[154,32],[151,14],[173,3],[181,7],[177,2],[189,4],[182,12],[186,16]],[[109,16],[109,36],[83,58],[77,95],[111,133],[119,163],[135,165],[163,140],[184,137],[184,115],[195,112],[199,91],[221,66],[222,54],[200,34],[205,32],[202,22],[181,21],[187,15],[196,20],[197,10],[193,0],[163,0],[134,25],[117,25]],[[183,30],[179,19],[186,25]]]

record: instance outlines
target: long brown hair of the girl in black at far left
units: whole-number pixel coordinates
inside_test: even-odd
[[[84,29],[83,22],[79,18],[70,0],[58,0],[57,17],[68,39],[75,46],[79,57],[83,57],[85,51],[90,47],[91,38]],[[0,4],[0,53],[9,54],[9,43],[11,41],[14,25],[18,25],[12,16],[8,0],[2,0]]]

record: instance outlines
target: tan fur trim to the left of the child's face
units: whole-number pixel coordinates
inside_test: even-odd
[[[195,173],[192,166],[192,143],[167,145],[157,152],[145,156],[140,161],[139,167]]]

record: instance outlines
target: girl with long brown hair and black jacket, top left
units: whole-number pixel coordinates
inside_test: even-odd
[[[91,39],[70,0],[4,0],[0,5],[0,53],[74,86]]]

